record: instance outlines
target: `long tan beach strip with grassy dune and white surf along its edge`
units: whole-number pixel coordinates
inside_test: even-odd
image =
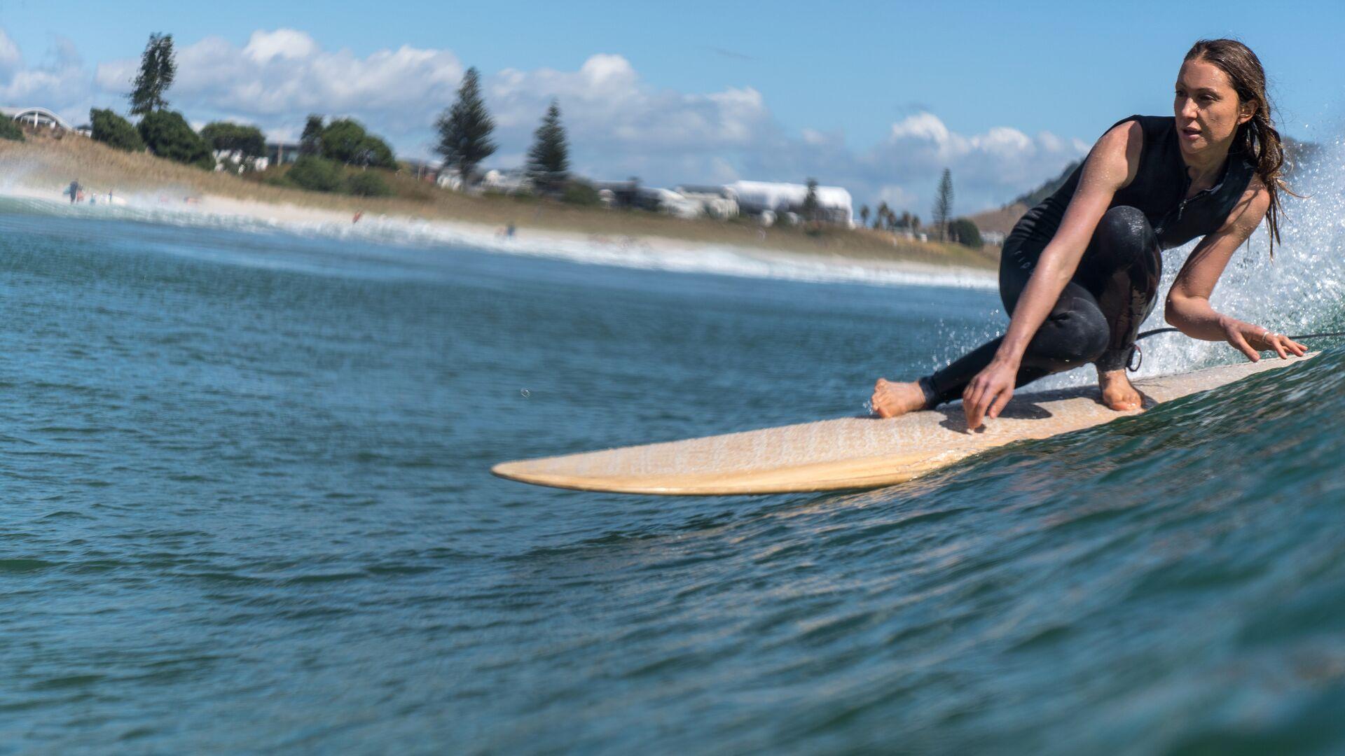
[[[210,174],[106,148],[87,139],[0,143],[0,194],[69,204],[79,180],[86,211],[172,223],[256,226],[635,268],[815,281],[993,287],[993,250],[896,239],[868,229],[759,229],[414,186],[422,202],[325,195]],[[397,180],[414,179],[395,176]],[[108,195],[113,202],[108,202]],[[98,204],[98,202],[102,204]],[[356,221],[356,214],[359,215]],[[506,233],[512,226],[514,233]]]

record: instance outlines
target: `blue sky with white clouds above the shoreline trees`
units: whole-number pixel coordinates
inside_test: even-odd
[[[227,8],[227,9],[225,9]],[[87,122],[125,112],[151,32],[174,35],[174,109],[295,139],[355,117],[432,157],[475,66],[496,120],[488,167],[523,160],[558,100],[572,168],[648,186],[815,178],[855,206],[997,207],[1085,155],[1115,121],[1171,113],[1181,58],[1235,36],[1262,59],[1280,130],[1345,124],[1345,0],[1221,3],[215,3],[0,0],[0,105]]]

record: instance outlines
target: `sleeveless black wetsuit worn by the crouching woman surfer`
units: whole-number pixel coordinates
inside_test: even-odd
[[[1112,128],[1126,121],[1139,121],[1143,129],[1139,169],[1112,198],[1077,270],[1028,343],[1018,369],[1018,386],[1089,362],[1103,370],[1124,367],[1139,324],[1154,308],[1162,277],[1161,252],[1219,230],[1255,174],[1251,161],[1235,148],[1215,186],[1184,200],[1190,178],[1177,143],[1176,120],[1171,116],[1131,116]],[[999,257],[999,297],[1005,312],[1013,313],[1041,252],[1056,235],[1081,172],[1080,164],[1054,194],[1029,210],[1005,239]],[[1003,336],[987,342],[921,378],[928,405],[962,398],[963,389],[990,365],[1002,340]]]

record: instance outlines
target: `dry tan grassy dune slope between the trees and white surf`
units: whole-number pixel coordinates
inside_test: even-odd
[[[972,250],[954,243],[919,242],[868,229],[824,227],[808,233],[800,227],[763,230],[746,219],[683,221],[656,213],[604,210],[560,202],[468,196],[440,190],[406,174],[386,174],[397,196],[371,199],[276,187],[230,174],[214,174],[160,160],[148,153],[128,153],[83,137],[54,139],[30,135],[24,143],[0,140],[0,182],[16,182],[38,190],[61,188],[73,179],[98,191],[164,192],[174,196],[217,195],[225,198],[292,204],[354,214],[386,213],[429,221],[483,225],[515,223],[521,230],[553,230],[603,237],[663,237],[670,239],[755,246],[799,254],[857,260],[890,260],[932,265],[993,268],[997,248]]]

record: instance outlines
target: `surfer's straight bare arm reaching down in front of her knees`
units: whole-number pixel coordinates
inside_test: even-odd
[[[1143,139],[1142,126],[1127,121],[1104,133],[1088,153],[1060,229],[1041,252],[1037,268],[1018,297],[999,351],[963,391],[968,428],[979,428],[985,416],[998,417],[1009,404],[1028,343],[1073,277],[1116,191],[1134,180]]]

